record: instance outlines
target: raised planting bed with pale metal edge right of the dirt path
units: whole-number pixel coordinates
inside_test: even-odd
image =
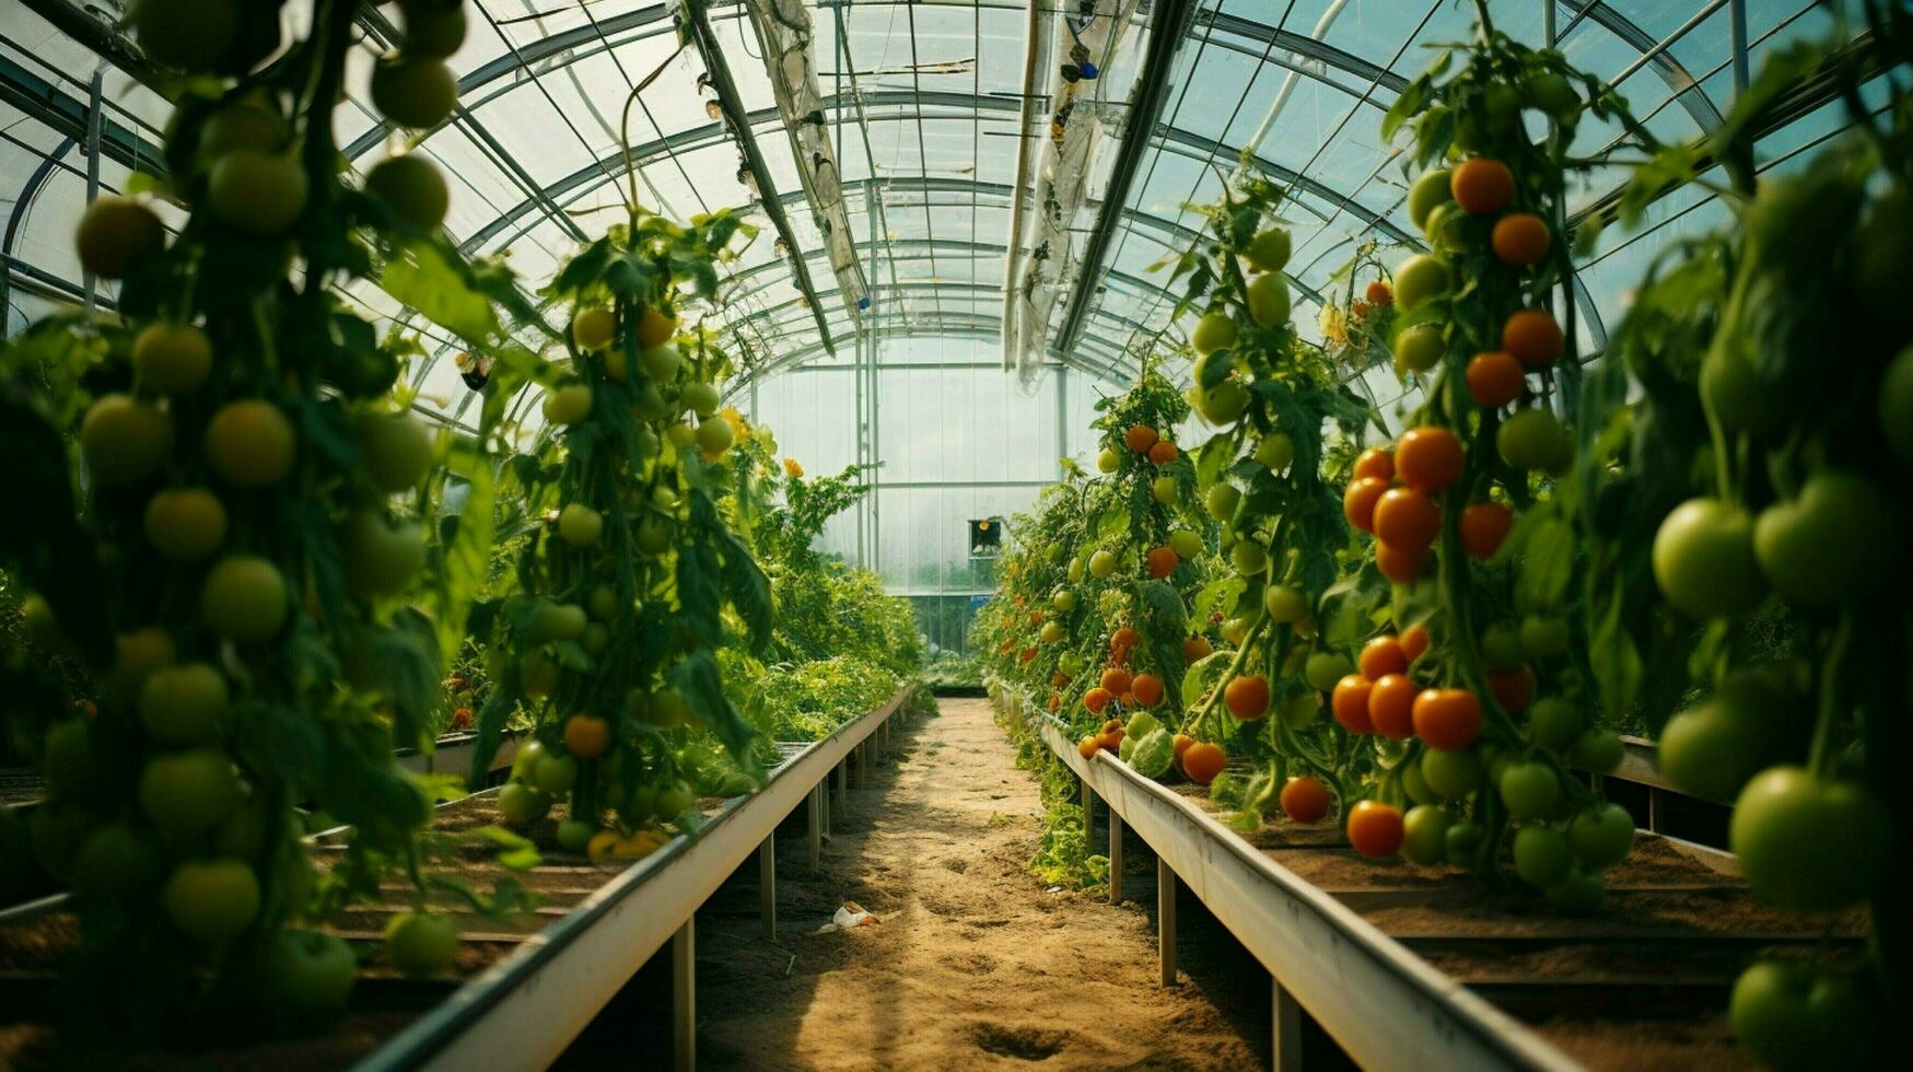
[[[1165,980],[1178,879],[1268,969],[1278,1068],[1299,1064],[1303,1015],[1368,1068],[1743,1068],[1726,1024],[1739,971],[1863,944],[1863,913],[1808,927],[1758,904],[1729,854],[1645,831],[1592,917],[1454,867],[1368,860],[1333,821],[1245,837],[1203,789],[1083,760],[1031,703],[999,703],[1110,808],[1113,896],[1125,825],[1157,854]]]

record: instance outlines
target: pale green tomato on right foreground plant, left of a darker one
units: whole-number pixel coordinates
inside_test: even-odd
[[[1695,618],[1745,614],[1768,593],[1754,519],[1722,500],[1674,507],[1655,532],[1653,567],[1666,601]]]

